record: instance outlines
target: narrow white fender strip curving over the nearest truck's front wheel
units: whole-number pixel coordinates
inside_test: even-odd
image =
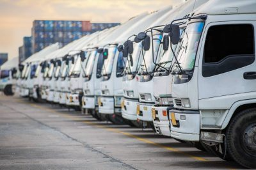
[[[225,117],[225,120],[222,123],[221,126],[221,130],[225,129],[229,123],[229,121],[231,120],[234,112],[236,111],[236,109],[241,106],[241,105],[245,105],[245,104],[256,104],[256,99],[248,99],[248,100],[239,100],[237,102],[235,102],[229,109],[227,116]]]

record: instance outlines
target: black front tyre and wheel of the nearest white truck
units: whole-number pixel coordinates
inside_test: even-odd
[[[227,127],[227,150],[241,166],[256,168],[256,109],[239,112]]]

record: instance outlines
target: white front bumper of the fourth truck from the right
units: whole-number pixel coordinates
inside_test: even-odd
[[[137,120],[136,107],[138,100],[122,99],[122,117],[127,120]]]

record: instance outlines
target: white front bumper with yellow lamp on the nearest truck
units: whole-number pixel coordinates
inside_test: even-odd
[[[172,109],[169,112],[171,136],[183,141],[200,140],[200,112],[180,111]]]

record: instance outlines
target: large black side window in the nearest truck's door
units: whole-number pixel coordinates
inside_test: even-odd
[[[211,77],[251,65],[255,59],[251,24],[211,26],[204,47],[202,75]]]

